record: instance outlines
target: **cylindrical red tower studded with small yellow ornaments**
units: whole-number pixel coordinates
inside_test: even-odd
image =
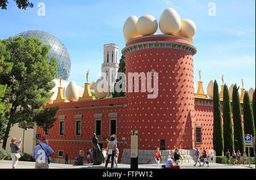
[[[126,57],[127,125],[130,130],[139,131],[139,149],[155,149],[160,145],[165,149],[193,148],[196,51],[190,40],[180,36],[143,36],[126,43],[122,54]],[[142,72],[152,82],[156,76],[157,97],[148,98],[153,92],[141,91],[143,76],[139,76],[139,92],[134,92],[138,84],[134,84],[136,78],[133,84],[128,84],[129,72]],[[147,72],[151,72],[150,77]],[[128,92],[129,85],[133,86],[133,92]]]

